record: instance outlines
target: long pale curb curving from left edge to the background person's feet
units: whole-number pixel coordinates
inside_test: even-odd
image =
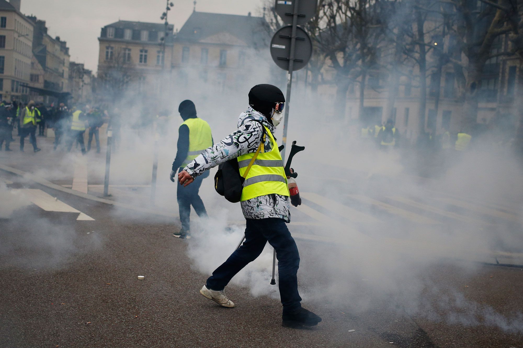
[[[75,190],[72,190],[72,189],[68,189],[68,188],[62,187],[61,185],[52,183],[49,180],[37,177],[35,175],[32,175],[31,173],[28,173],[28,172],[25,172],[25,171],[22,171],[22,170],[13,168],[13,167],[0,165],[0,170],[3,170],[3,171],[6,171],[6,172],[9,172],[9,173],[12,173],[12,174],[15,174],[15,175],[27,178],[27,179],[32,180],[32,181],[34,181],[34,182],[36,182],[36,183],[38,183],[40,185],[48,187],[50,189],[62,191],[62,192],[65,192],[65,193],[69,193],[69,194],[75,195],[77,197],[86,199],[86,200],[95,201],[95,202],[99,202],[99,203],[105,203],[105,204],[109,204],[109,205],[113,205],[113,206],[118,206],[118,207],[121,207],[121,208],[126,208],[126,209],[134,210],[134,211],[137,211],[137,212],[141,212],[141,213],[147,213],[147,214],[153,214],[153,215],[161,215],[161,216],[166,216],[166,217],[178,218],[178,215],[175,215],[175,214],[169,214],[169,213],[164,213],[164,212],[157,211],[157,210],[152,210],[152,209],[138,207],[138,206],[131,205],[131,204],[115,202],[115,201],[111,201],[111,200],[108,200],[108,199],[105,199],[105,198],[99,198],[99,197],[94,196],[92,194],[83,193],[83,192],[75,191]]]

